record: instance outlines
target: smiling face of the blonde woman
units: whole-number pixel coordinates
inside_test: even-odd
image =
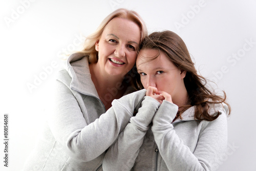
[[[100,70],[124,76],[135,64],[140,38],[140,28],[134,22],[118,17],[110,20],[95,44]]]

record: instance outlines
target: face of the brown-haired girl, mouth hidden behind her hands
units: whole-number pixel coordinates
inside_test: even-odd
[[[158,53],[156,49],[144,49],[139,52],[136,65],[141,83],[145,89],[149,86],[156,87],[158,91],[164,91],[170,94],[173,100],[177,100],[181,91],[186,91],[182,89],[186,72],[176,67],[162,51],[155,60],[147,62],[148,58]]]

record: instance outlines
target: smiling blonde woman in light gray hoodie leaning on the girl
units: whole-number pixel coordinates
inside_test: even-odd
[[[132,72],[146,35],[135,11],[118,9],[68,58],[55,81],[44,134],[24,170],[102,170],[106,149],[139,104],[140,95],[121,97],[136,90]],[[131,111],[123,101],[130,101]]]

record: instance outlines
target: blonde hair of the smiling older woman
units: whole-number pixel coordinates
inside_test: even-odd
[[[97,28],[97,30],[89,35],[84,41],[83,50],[79,53],[83,53],[85,56],[89,56],[89,63],[96,63],[98,61],[98,52],[95,50],[95,43],[97,40],[99,40],[105,26],[110,22],[110,20],[115,17],[131,20],[139,26],[141,31],[141,38],[139,44],[142,42],[145,36],[147,36],[146,25],[137,12],[124,8],[117,9],[108,16],[106,16]]]

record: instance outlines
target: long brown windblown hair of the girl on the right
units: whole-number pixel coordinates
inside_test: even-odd
[[[215,103],[226,103],[230,114],[230,105],[226,102],[226,93],[223,96],[217,95],[214,91],[207,88],[207,79],[197,74],[194,62],[191,60],[184,41],[176,33],[172,31],[154,32],[144,39],[140,49],[157,49],[162,51],[170,61],[172,61],[180,70],[186,71],[184,84],[188,93],[188,103],[180,107],[179,113],[182,113],[195,106],[195,119],[212,121],[219,117],[208,113],[210,106]],[[154,60],[157,56],[153,56],[148,60]],[[137,85],[143,89],[139,76],[136,77]]]

